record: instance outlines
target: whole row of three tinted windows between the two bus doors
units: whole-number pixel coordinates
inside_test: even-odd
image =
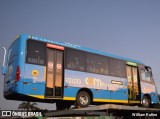
[[[66,68],[126,78],[125,62],[102,55],[66,49]]]

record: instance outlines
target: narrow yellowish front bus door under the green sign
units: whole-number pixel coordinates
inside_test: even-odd
[[[137,67],[127,66],[128,102],[140,103]]]

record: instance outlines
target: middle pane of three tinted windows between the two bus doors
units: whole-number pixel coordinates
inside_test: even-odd
[[[108,74],[108,58],[88,53],[87,71],[98,74]]]

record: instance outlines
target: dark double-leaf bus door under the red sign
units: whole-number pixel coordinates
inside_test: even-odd
[[[51,98],[62,98],[64,48],[52,44],[47,44],[47,47],[47,77],[45,96]],[[63,50],[60,48],[62,48]]]

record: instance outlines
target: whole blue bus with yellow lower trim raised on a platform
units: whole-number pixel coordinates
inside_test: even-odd
[[[4,48],[4,97],[87,107],[159,103],[151,67],[67,42],[22,34]]]

